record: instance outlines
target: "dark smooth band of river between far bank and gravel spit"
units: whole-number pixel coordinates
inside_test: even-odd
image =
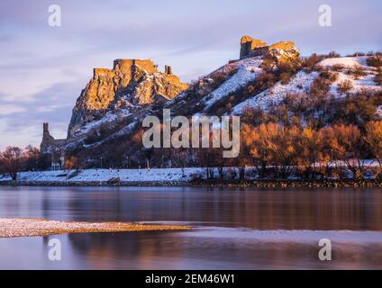
[[[192,221],[254,229],[382,230],[380,188],[5,188],[0,217]],[[15,191],[16,189],[16,191]]]

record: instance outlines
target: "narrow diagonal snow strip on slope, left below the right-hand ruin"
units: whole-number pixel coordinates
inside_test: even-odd
[[[261,62],[261,57],[245,58],[237,61],[235,63],[237,66],[236,73],[227,79],[223,85],[214,90],[214,92],[205,97],[205,110],[213,106],[216,101],[253,81],[259,75],[259,72],[262,71],[259,67]]]

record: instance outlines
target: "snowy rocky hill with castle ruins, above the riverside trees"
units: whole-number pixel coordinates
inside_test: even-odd
[[[372,100],[365,104],[365,117],[380,120],[381,72],[369,63],[371,57],[331,53],[301,58],[292,41],[268,45],[244,36],[239,59],[191,85],[181,83],[170,67],[159,72],[150,60],[118,59],[113,69],[94,70],[73,109],[68,139],[56,148],[86,158],[83,166],[99,166],[100,157],[121,165],[132,155],[140,163],[145,152],[135,135],[145,116],[160,117],[163,108],[173,116],[236,114],[246,121],[251,115],[256,122],[268,115],[319,128],[345,117],[341,110],[348,109],[347,102],[366,97]]]

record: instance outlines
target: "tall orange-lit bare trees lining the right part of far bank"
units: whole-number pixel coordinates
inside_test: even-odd
[[[268,168],[274,176],[286,178],[298,173],[306,178],[328,176],[340,178],[346,170],[354,178],[366,172],[382,171],[382,121],[369,121],[366,130],[357,126],[338,124],[312,130],[276,123],[258,127],[244,125],[241,131],[241,166],[255,166],[260,177],[267,176]],[[365,159],[374,159],[373,162]]]

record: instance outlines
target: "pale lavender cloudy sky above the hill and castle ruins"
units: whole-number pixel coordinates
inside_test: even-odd
[[[51,27],[51,4],[61,26]],[[319,6],[332,26],[319,25]],[[239,57],[243,35],[293,40],[303,56],[381,50],[380,0],[1,0],[0,149],[65,138],[94,67],[151,58],[188,82]]]

